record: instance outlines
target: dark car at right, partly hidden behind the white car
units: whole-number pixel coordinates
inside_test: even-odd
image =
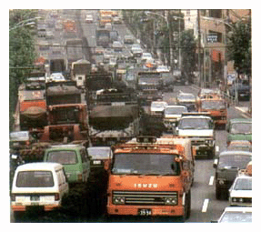
[[[221,199],[223,194],[228,194],[237,170],[245,169],[252,160],[252,153],[246,151],[223,151],[214,160],[216,168],[216,199]]]

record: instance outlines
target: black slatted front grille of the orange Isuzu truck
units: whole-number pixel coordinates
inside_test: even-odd
[[[177,192],[114,191],[113,197],[124,197],[125,205],[166,205],[166,198],[175,198]]]

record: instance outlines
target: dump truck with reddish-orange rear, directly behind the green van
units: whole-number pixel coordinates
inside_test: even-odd
[[[48,126],[41,142],[88,140],[88,114],[74,81],[46,84]]]

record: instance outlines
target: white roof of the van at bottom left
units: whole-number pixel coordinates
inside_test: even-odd
[[[25,170],[55,170],[56,168],[62,168],[63,166],[58,163],[50,163],[50,162],[35,162],[28,163],[25,165],[17,166],[17,171],[25,171]]]

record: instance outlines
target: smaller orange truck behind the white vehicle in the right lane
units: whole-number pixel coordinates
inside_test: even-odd
[[[197,111],[208,112],[216,126],[226,127],[227,104],[226,100],[219,95],[206,95],[197,99]]]

